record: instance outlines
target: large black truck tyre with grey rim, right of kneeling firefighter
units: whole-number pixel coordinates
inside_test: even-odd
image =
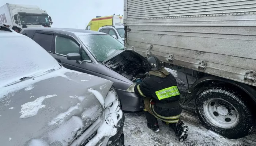
[[[244,98],[222,87],[201,92],[195,100],[195,112],[204,127],[229,139],[245,137],[255,123]]]

